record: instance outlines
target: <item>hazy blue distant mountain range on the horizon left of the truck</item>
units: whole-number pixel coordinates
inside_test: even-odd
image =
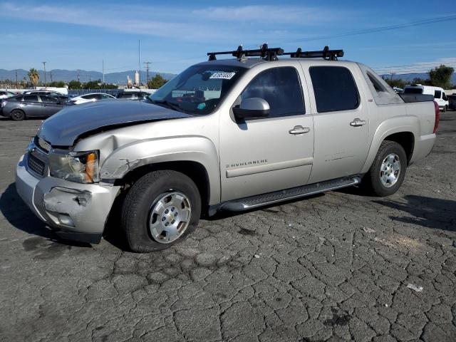
[[[24,77],[28,81],[27,76],[28,71],[24,69],[17,69],[17,79],[18,81],[22,81]],[[44,81],[44,73],[42,70],[38,70],[40,74],[40,81]],[[96,80],[103,80],[103,73],[98,71],[85,71],[85,70],[62,70],[62,69],[53,69],[51,71],[46,70],[46,81],[65,81],[69,82],[72,80],[77,80],[79,74],[79,81],[81,82],[88,82],[88,81],[96,81]],[[154,77],[157,75],[156,71],[149,71],[149,78]],[[160,75],[169,80],[170,78],[174,77],[175,75],[172,73],[160,73]],[[127,76],[135,81],[135,70],[130,71],[119,71],[117,73],[105,73],[105,82],[106,83],[115,83],[115,84],[127,84]],[[147,73],[145,71],[141,71],[141,82],[146,81]],[[0,69],[0,79],[10,79],[16,81],[16,70],[4,70]]]

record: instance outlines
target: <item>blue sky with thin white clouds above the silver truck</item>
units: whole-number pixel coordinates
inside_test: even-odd
[[[378,73],[456,67],[451,1],[1,1],[0,68],[179,73],[209,51],[343,48]],[[446,17],[446,19],[441,19]],[[410,23],[415,23],[410,25]],[[423,24],[425,23],[425,24]],[[405,24],[405,25],[403,25]],[[388,27],[393,29],[385,30]]]

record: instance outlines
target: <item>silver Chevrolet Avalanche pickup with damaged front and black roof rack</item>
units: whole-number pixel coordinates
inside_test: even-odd
[[[226,53],[235,58],[217,60]],[[351,185],[392,195],[435,142],[432,97],[404,100],[341,50],[208,55],[147,101],[44,121],[16,167],[28,207],[91,243],[117,214],[130,249],[150,252],[185,239],[201,215]]]

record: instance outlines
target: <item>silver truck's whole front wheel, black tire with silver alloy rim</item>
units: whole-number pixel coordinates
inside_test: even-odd
[[[196,229],[200,214],[195,182],[181,172],[159,170],[133,184],[121,222],[133,252],[154,252],[184,240]]]

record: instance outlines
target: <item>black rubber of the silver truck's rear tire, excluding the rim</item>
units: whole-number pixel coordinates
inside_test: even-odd
[[[385,187],[382,182],[380,181],[380,168],[383,163],[383,160],[387,155],[391,153],[395,153],[398,155],[400,160],[400,175],[398,181],[392,187]],[[407,170],[407,155],[401,145],[397,142],[390,142],[388,141],[378,151],[378,154],[375,156],[375,160],[370,170],[370,178],[371,178],[371,188],[373,193],[377,196],[390,196],[393,195],[395,192],[398,191],[400,186],[402,185],[405,173]]]

